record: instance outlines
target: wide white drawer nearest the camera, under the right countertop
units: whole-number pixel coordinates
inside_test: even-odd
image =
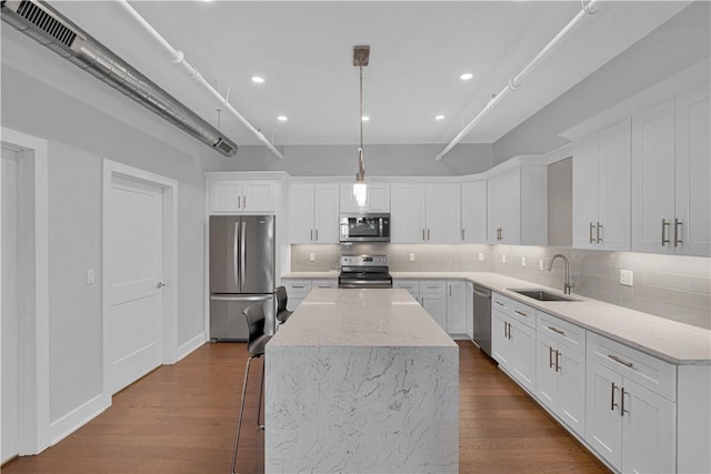
[[[677,401],[677,366],[588,331],[588,360],[597,361],[623,377]]]

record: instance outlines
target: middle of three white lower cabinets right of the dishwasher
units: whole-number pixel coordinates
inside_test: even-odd
[[[535,396],[583,436],[585,433],[585,330],[538,311]]]

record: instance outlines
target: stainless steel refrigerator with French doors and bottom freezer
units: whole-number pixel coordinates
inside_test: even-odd
[[[247,341],[242,311],[261,302],[274,330],[274,216],[210,216],[210,339]]]

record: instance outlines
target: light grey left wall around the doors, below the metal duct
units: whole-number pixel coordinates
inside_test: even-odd
[[[178,344],[204,333],[204,180],[194,151],[203,145],[29,38],[14,43],[8,30],[2,29],[2,127],[49,142],[54,422],[101,393],[101,281],[87,285],[86,271],[94,269],[101,275],[102,159],[179,182]],[[69,88],[69,93],[50,83]]]

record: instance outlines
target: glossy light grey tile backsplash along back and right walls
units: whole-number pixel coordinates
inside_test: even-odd
[[[316,261],[309,261],[314,253]],[[484,244],[354,244],[291,245],[292,271],[338,268],[343,254],[388,254],[393,272],[495,272],[562,290],[564,265],[550,259],[562,253],[570,260],[574,294],[643,311],[687,324],[711,329],[711,259],[632,252],[578,250],[570,246]],[[410,262],[414,253],[414,262]],[[484,261],[479,261],[479,254]],[[505,263],[503,256],[505,255]],[[522,265],[525,259],[525,266]],[[540,265],[543,270],[540,270]],[[620,271],[633,272],[633,285],[620,284]]]

